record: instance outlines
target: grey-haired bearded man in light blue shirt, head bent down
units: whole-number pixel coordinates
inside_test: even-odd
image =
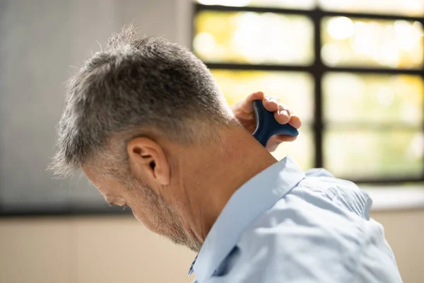
[[[370,197],[273,158],[293,138],[261,146],[254,99],[300,127],[260,92],[231,110],[189,50],[126,28],[69,81],[52,169],[82,168],[107,202],[198,252],[199,283],[401,282]]]

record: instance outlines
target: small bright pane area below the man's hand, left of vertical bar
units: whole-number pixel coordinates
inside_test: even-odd
[[[314,166],[314,145],[313,136],[309,127],[302,126],[299,129],[299,136],[293,142],[283,142],[273,151],[272,155],[278,160],[290,155],[295,158],[303,171]]]

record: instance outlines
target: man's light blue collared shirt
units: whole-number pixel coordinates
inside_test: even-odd
[[[197,283],[402,282],[372,200],[283,158],[230,198],[194,260]]]

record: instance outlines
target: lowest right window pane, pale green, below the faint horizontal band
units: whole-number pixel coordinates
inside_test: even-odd
[[[324,166],[341,178],[423,174],[424,134],[407,131],[336,131],[324,134]]]

